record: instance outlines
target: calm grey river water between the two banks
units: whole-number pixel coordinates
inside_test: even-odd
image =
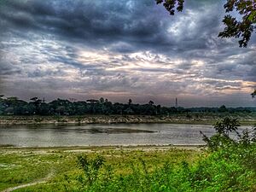
[[[242,126],[241,129],[249,128]],[[2,125],[0,145],[17,147],[108,145],[199,145],[200,131],[214,133],[212,125],[112,124],[112,125]]]

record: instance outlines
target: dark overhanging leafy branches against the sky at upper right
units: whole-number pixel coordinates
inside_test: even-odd
[[[184,0],[155,0],[157,4],[163,3],[170,15],[174,15],[175,10],[183,11]],[[224,4],[226,13],[234,10],[241,15],[241,21],[231,15],[224,16],[224,31],[218,33],[219,38],[240,38],[240,47],[247,47],[252,32],[256,29],[256,6],[255,0],[227,0]],[[239,17],[239,16],[238,16]]]

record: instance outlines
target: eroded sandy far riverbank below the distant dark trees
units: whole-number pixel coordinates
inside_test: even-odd
[[[256,113],[191,113],[166,116],[149,115],[83,115],[83,116],[0,116],[0,125],[85,125],[85,124],[201,124],[212,125],[230,116],[241,125],[256,124]]]

